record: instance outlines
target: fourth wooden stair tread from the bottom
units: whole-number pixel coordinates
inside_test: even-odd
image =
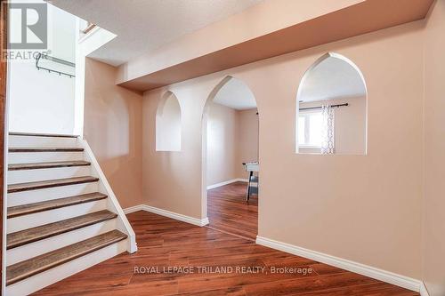
[[[92,176],[84,176],[84,177],[73,177],[73,178],[65,178],[65,179],[55,179],[55,180],[42,180],[42,181],[34,181],[34,182],[26,182],[26,183],[17,183],[17,184],[9,184],[8,185],[8,193],[27,191],[27,190],[35,190],[35,189],[43,189],[43,188],[53,188],[58,186],[68,186],[75,184],[83,184],[83,183],[91,183],[98,181],[99,178]]]

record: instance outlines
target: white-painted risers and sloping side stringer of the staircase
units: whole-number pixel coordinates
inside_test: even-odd
[[[69,186],[61,186],[55,188],[44,188],[38,190],[28,190],[15,192],[7,195],[8,206],[20,204],[32,204],[52,199],[58,199],[69,196],[77,196],[93,192],[105,192],[108,198],[91,203],[71,205],[60,209],[54,209],[45,212],[24,215],[7,220],[7,232],[20,231],[22,229],[33,228],[36,226],[52,223],[58,220],[66,220],[72,217],[85,215],[89,212],[101,211],[108,209],[117,212],[119,217],[113,220],[103,221],[93,224],[85,228],[79,228],[59,236],[53,236],[40,240],[31,244],[22,245],[11,250],[7,250],[5,255],[5,264],[11,266],[23,260],[29,260],[46,252],[52,252],[64,246],[75,244],[85,239],[101,235],[113,229],[119,229],[131,238],[127,238],[117,244],[111,244],[96,252],[82,256],[76,260],[71,260],[59,267],[51,268],[44,272],[31,276],[16,284],[6,287],[6,295],[28,295],[36,292],[50,284],[54,284],[62,279],[72,276],[86,268],[108,260],[121,252],[130,250],[134,252],[135,246],[134,232],[128,224],[120,206],[117,203],[116,196],[109,188],[107,181],[99,164],[93,156],[93,151],[89,148],[85,140],[70,138],[54,138],[54,137],[25,137],[10,136],[10,147],[84,147],[85,152],[15,152],[8,154],[8,164],[27,164],[27,163],[44,163],[56,161],[75,161],[75,160],[92,160],[91,166],[70,167],[70,168],[51,168],[37,170],[23,170],[8,172],[8,184],[17,184],[21,182],[36,180],[54,180],[62,178],[70,178],[77,176],[100,176],[103,180],[101,183],[84,183]],[[101,190],[99,190],[101,188]]]

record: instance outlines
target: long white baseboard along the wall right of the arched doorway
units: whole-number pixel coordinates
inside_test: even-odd
[[[421,285],[423,285],[422,281],[410,278],[408,276],[401,276],[383,269],[373,268],[368,265],[364,265],[351,260],[345,260],[322,252],[312,251],[293,244],[282,243],[263,236],[256,236],[256,244],[261,244],[282,252],[288,252],[307,259],[319,261],[321,263],[325,263],[336,268],[342,268],[348,271],[355,272],[362,276],[372,277],[376,280],[389,284],[395,284],[414,292],[420,292]]]

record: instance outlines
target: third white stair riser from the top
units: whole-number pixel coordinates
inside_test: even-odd
[[[90,166],[72,166],[37,170],[8,171],[8,184],[89,176]]]

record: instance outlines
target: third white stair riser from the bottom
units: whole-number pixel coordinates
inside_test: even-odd
[[[15,218],[8,219],[7,232],[12,233],[28,228],[35,228],[48,223],[53,223],[60,220],[66,220],[69,218],[82,216],[91,212],[98,212],[101,210],[107,210],[107,200],[101,199],[91,203],[76,204],[66,206],[60,209],[54,209],[44,212],[36,212],[33,214],[23,215]]]

